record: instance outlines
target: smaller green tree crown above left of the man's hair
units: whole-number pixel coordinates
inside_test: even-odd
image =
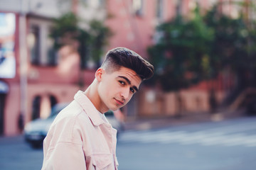
[[[81,28],[81,23],[89,28]],[[94,62],[100,62],[103,48],[111,36],[109,28],[101,21],[92,20],[89,23],[82,22],[74,13],[65,13],[55,19],[50,36],[54,38],[54,47],[58,50],[63,45],[78,46],[81,67],[85,68],[87,61],[92,58]]]

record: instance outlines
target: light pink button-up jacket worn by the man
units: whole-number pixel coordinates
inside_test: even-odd
[[[117,130],[100,118],[82,91],[74,98],[57,115],[43,142],[42,169],[117,169]]]

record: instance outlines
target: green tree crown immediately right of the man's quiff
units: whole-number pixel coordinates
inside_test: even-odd
[[[156,67],[155,79],[164,91],[178,91],[201,81],[209,70],[208,54],[213,29],[203,23],[198,8],[195,18],[183,21],[179,16],[161,24],[161,38],[149,47],[151,62]]]

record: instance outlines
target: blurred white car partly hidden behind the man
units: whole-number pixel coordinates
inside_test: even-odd
[[[47,135],[50,125],[53,123],[56,115],[58,115],[58,113],[66,106],[68,106],[68,103],[58,103],[53,106],[48,118],[38,118],[36,120],[32,120],[30,123],[27,123],[24,129],[24,137],[26,142],[28,142],[34,148],[42,147],[43,140]],[[114,113],[112,111],[105,113],[105,116],[112,127],[117,129],[118,136],[119,132],[124,130],[123,124],[114,117]]]

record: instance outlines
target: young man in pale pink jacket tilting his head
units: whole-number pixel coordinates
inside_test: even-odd
[[[43,143],[42,169],[117,169],[117,130],[103,113],[125,106],[154,67],[136,52],[107,52],[95,79],[60,111]]]

